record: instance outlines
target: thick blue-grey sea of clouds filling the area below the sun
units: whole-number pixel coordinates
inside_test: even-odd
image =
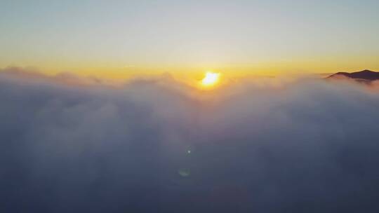
[[[379,212],[378,109],[322,79],[3,70],[0,212]]]

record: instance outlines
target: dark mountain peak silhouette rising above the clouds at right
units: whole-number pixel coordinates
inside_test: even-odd
[[[334,78],[337,78],[337,79],[338,78],[352,78],[356,81],[370,83],[371,81],[379,80],[379,72],[378,71],[371,71],[368,69],[365,69],[362,71],[356,71],[356,72],[352,72],[352,73],[340,71],[336,74],[328,76],[326,79],[334,79]]]

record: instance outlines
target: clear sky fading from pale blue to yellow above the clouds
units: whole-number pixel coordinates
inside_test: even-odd
[[[379,1],[0,3],[0,67],[144,72],[379,69]]]

